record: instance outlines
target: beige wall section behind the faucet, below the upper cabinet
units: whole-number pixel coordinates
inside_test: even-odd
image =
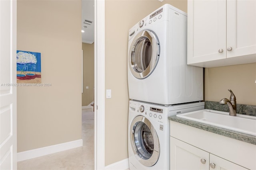
[[[230,98],[237,104],[256,105],[256,63],[205,68],[205,100],[218,102]]]

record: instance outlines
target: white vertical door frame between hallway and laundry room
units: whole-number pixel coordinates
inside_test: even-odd
[[[94,169],[105,169],[105,1],[94,0]]]

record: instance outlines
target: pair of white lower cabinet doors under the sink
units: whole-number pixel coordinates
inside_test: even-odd
[[[248,170],[238,164],[170,137],[171,170]]]

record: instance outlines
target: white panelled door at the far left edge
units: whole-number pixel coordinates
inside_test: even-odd
[[[17,169],[16,0],[0,0],[0,169]]]

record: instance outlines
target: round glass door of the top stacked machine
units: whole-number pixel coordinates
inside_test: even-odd
[[[150,30],[140,31],[132,42],[128,63],[136,78],[148,77],[156,68],[160,55],[160,44],[156,34]]]

